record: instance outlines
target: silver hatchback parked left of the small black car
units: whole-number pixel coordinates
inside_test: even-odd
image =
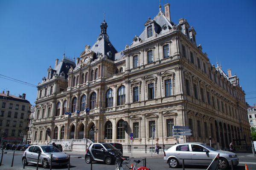
[[[51,162],[51,154],[52,166],[67,166],[68,164],[68,155],[66,153],[61,152],[56,147],[52,145],[32,145],[23,152],[23,165],[27,165],[28,163],[37,164],[39,153],[40,157],[38,164],[42,164],[44,168],[49,167],[49,164]]]

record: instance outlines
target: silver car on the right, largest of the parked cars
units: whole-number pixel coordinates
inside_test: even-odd
[[[208,165],[212,162],[216,155],[219,155],[219,169],[226,169],[231,165],[239,164],[239,158],[235,153],[215,150],[212,147],[208,147],[203,143],[184,143],[176,144],[164,151],[163,161],[168,163],[170,167],[177,167],[179,164],[182,165],[182,159],[184,164],[195,164],[195,165]]]

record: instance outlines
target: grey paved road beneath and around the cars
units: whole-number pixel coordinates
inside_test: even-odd
[[[6,151],[5,151],[6,152]],[[8,151],[3,155],[2,166],[0,170],[21,170],[23,169],[21,156],[23,151],[15,151],[14,163],[12,164],[13,151]],[[90,170],[90,164],[86,164],[84,161],[84,154],[80,152],[67,152],[70,155],[70,170]],[[235,167],[235,170],[244,170],[244,165],[247,164],[249,170],[256,170],[256,157],[251,153],[237,153],[239,156],[239,165]],[[124,153],[124,156],[131,156],[131,153]],[[154,155],[151,157],[151,153],[138,152],[133,154],[134,157],[144,158],[146,157],[146,166],[151,170],[182,170],[182,167],[179,168],[169,168],[168,164],[163,162],[163,153],[160,153],[158,156]],[[134,164],[134,162],[133,162]],[[143,166],[143,162],[139,164]],[[131,166],[131,163],[128,164]],[[26,170],[36,170],[35,164],[29,164],[25,167]],[[40,166],[39,170],[44,168]],[[63,167],[52,167],[53,170],[67,170]],[[93,170],[114,170],[115,165],[106,165],[102,163],[93,162]],[[128,167],[126,168],[128,169]],[[206,170],[206,166],[185,166],[186,170]]]

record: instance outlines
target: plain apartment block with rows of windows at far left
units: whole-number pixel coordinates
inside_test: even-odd
[[[6,133],[4,142],[23,142],[27,135],[31,104],[25,98],[25,93],[19,97],[9,91],[0,93],[0,133]]]

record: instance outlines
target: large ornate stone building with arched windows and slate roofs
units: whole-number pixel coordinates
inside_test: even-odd
[[[195,29],[183,18],[174,24],[169,3],[164,7],[121,52],[111,44],[104,20],[96,43],[85,46],[76,63],[65,55],[55,60],[38,84],[32,143],[55,139],[65,149],[75,147],[68,139],[85,138],[87,144],[95,139],[127,149],[134,133],[133,149],[149,150],[153,129],[154,143],[177,143],[174,125],[192,129],[179,142],[209,144],[211,136],[214,147],[228,147],[233,138],[235,144],[249,143],[238,76],[212,65],[196,43]]]

